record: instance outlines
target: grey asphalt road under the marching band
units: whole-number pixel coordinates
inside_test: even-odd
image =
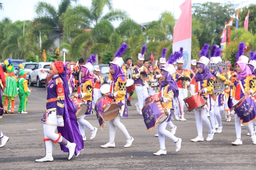
[[[178,127],[176,137],[182,138],[182,148],[175,152],[174,143],[166,138],[166,156],[154,156],[160,149],[156,130],[148,133],[142,115],[136,112],[136,100],[128,106],[128,118],[121,122],[132,137],[134,143],[124,148],[126,139],[120,131],[116,131],[116,148],[101,148],[109,140],[108,123],[104,131],[100,131],[96,115],[88,115],[86,119],[99,128],[92,141],[84,142],[84,150],[78,158],[67,160],[67,153],[61,152],[58,144],[54,145],[53,162],[34,162],[45,155],[43,123],[40,119],[46,105],[45,88],[32,88],[28,98],[28,114],[18,114],[18,98],[14,114],[4,114],[0,119],[0,131],[10,140],[0,148],[0,169],[254,169],[255,149],[246,129],[242,127],[243,145],[232,146],[236,140],[234,117],[231,122],[222,119],[223,131],[215,134],[212,141],[191,142],[197,136],[194,113],[186,113],[186,122],[173,121]],[[169,129],[169,127],[166,127]],[[170,129],[169,129],[170,130]],[[203,129],[204,139],[207,129]],[[86,129],[87,138],[90,138]]]

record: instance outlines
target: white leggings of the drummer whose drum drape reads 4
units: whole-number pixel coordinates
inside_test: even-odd
[[[165,129],[167,123],[168,123],[167,121],[164,121],[163,123],[157,126],[160,149],[165,149],[165,136],[170,138],[173,142],[178,141],[177,137],[175,137],[172,133],[170,133],[170,131],[167,131]]]

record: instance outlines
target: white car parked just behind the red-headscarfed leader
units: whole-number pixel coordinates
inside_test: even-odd
[[[47,76],[47,72],[49,71],[51,62],[39,62],[32,69],[28,77],[28,83],[30,86],[34,86],[36,83],[37,87],[42,87],[45,83],[45,78]]]

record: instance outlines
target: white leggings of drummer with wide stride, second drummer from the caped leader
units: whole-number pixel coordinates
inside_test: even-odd
[[[109,121],[109,142],[114,143],[115,136],[116,136],[116,127],[119,129],[122,134],[126,137],[126,140],[130,140],[131,136],[129,135],[128,131],[126,130],[123,123],[120,122],[120,114],[118,114],[113,120]]]

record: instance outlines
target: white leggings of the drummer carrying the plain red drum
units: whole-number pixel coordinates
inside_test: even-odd
[[[211,123],[209,119],[207,118],[207,109],[202,107],[201,110],[195,110],[195,119],[196,119],[196,128],[198,136],[203,136],[203,123],[208,129],[208,133],[212,133]]]

